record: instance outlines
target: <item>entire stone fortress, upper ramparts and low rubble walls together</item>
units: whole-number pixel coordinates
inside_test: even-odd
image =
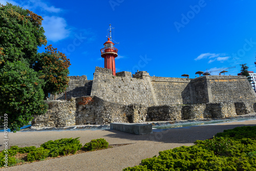
[[[96,67],[93,80],[69,77],[69,88],[49,100],[32,126],[222,118],[256,111],[256,94],[245,76],[195,79],[152,77],[145,71],[119,72]],[[51,97],[51,99],[54,99]]]

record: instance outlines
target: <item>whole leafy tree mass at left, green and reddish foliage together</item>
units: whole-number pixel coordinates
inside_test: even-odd
[[[0,4],[0,121],[18,131],[33,115],[44,114],[49,94],[68,86],[69,59],[47,45],[42,17],[19,6]]]

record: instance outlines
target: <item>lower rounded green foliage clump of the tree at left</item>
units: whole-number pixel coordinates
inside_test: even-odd
[[[0,116],[8,115],[8,127],[18,131],[28,124],[32,115],[44,114],[47,103],[41,86],[44,80],[22,61],[5,62],[0,72]],[[3,123],[1,117],[1,123]]]

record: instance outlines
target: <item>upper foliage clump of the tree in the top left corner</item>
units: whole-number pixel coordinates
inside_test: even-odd
[[[0,64],[25,59],[30,67],[37,60],[37,49],[46,45],[42,17],[7,3],[0,6]]]

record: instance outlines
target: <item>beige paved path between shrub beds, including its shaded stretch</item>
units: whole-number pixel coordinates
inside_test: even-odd
[[[8,167],[2,170],[122,170],[125,167],[140,164],[142,159],[158,155],[159,151],[182,145],[193,145],[196,140],[205,140],[223,130],[245,125],[255,126],[256,120],[190,126],[154,132],[150,135],[133,135],[114,130],[9,133],[9,144],[20,147],[31,145],[38,147],[49,140],[71,137],[80,137],[82,145],[97,138],[104,138],[110,144],[131,144]],[[3,140],[4,135],[1,137]],[[0,150],[3,150],[3,146],[0,147]]]

